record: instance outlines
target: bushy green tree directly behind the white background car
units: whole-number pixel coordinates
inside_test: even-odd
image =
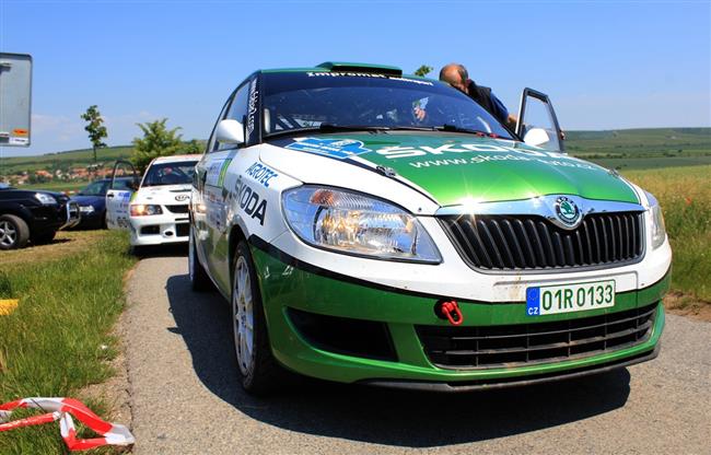
[[[177,133],[180,127],[167,129],[165,122],[167,118],[145,124],[137,124],[143,131],[142,138],[133,138],[133,154],[131,162],[140,173],[145,171],[151,160],[156,156],[170,156],[176,153],[183,153],[185,144],[180,140],[182,136]]]

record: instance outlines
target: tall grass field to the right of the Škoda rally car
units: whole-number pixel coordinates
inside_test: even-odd
[[[711,166],[623,174],[662,205],[674,253],[672,288],[711,302]]]

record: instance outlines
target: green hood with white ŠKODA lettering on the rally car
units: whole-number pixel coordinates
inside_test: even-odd
[[[320,135],[270,143],[296,153],[318,154],[324,160],[384,167],[443,207],[546,195],[639,202],[631,185],[617,173],[511,140],[474,135],[388,132]],[[294,171],[294,177],[299,178],[299,171]]]

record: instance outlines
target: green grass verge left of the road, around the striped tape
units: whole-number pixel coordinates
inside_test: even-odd
[[[0,298],[20,299],[14,313],[0,316],[0,402],[81,399],[83,387],[113,375],[106,361],[118,345],[109,331],[124,307],[124,276],[136,261],[126,235],[106,231],[80,250],[43,256],[2,264],[0,254]],[[106,411],[102,402],[88,404]],[[57,423],[0,434],[2,454],[66,453]]]

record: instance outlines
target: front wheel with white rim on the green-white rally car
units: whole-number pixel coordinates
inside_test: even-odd
[[[269,395],[283,382],[285,371],[271,354],[257,273],[244,241],[235,252],[231,306],[242,386],[250,395]]]

